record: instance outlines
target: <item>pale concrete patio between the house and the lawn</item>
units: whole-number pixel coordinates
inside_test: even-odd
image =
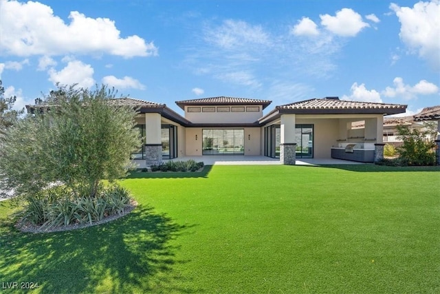
[[[243,156],[243,155],[222,155],[222,156],[185,156],[173,160],[189,160],[197,162],[203,161],[205,165],[281,165],[279,158],[266,156]],[[145,160],[134,160],[140,168],[145,167]],[[167,161],[167,160],[165,160]],[[362,162],[340,160],[334,158],[300,158],[296,160],[296,165],[362,165]]]

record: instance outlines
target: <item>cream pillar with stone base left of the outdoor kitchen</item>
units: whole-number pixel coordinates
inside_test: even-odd
[[[296,164],[295,114],[281,115],[280,161],[283,165]]]

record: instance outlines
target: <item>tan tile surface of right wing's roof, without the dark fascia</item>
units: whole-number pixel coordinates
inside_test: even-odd
[[[276,109],[381,109],[381,108],[402,108],[406,105],[371,103],[358,101],[344,101],[338,98],[314,98],[305,101],[277,106]]]

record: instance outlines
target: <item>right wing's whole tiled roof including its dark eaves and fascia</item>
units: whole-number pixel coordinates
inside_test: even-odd
[[[313,98],[276,106],[259,119],[270,122],[281,114],[401,114],[407,105],[339,100],[338,97]]]

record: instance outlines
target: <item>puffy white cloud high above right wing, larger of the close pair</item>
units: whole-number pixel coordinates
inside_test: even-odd
[[[339,36],[355,36],[363,28],[369,27],[368,23],[362,21],[362,17],[358,12],[350,8],[342,8],[336,12],[336,16],[329,14],[320,15],[321,25],[327,30]]]

